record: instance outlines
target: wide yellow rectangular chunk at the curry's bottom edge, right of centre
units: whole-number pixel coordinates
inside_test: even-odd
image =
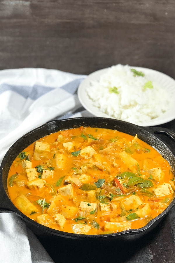
[[[105,231],[125,231],[131,229],[131,222],[105,222],[104,230]]]

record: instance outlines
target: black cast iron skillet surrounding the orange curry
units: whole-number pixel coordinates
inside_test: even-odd
[[[34,141],[46,136],[50,133],[57,132],[59,130],[76,128],[80,126],[91,126],[99,128],[116,129],[118,131],[125,132],[135,136],[137,134],[138,138],[145,141],[146,143],[153,146],[158,152],[169,162],[171,167],[175,169],[175,155],[170,150],[169,146],[164,143],[156,134],[166,134],[171,139],[175,141],[175,134],[169,129],[165,128],[155,128],[155,127],[140,127],[128,122],[123,122],[120,120],[114,120],[109,118],[100,117],[81,117],[81,118],[71,118],[66,120],[55,120],[38,127],[29,133],[22,136],[17,140],[8,150],[3,158],[0,167],[0,212],[10,212],[19,215],[26,225],[38,236],[48,237],[48,238],[73,238],[79,240],[107,240],[108,238],[116,238],[118,240],[131,240],[132,238],[138,238],[146,233],[149,233],[157,224],[162,220],[162,218],[172,209],[175,204],[175,193],[173,200],[160,215],[152,219],[146,226],[140,229],[130,229],[127,231],[122,231],[118,233],[102,234],[102,235],[81,235],[75,233],[67,233],[58,231],[55,229],[50,229],[46,226],[34,222],[29,217],[25,216],[20,212],[11,202],[8,190],[7,190],[7,176],[10,166],[16,156],[27,146],[29,146]]]

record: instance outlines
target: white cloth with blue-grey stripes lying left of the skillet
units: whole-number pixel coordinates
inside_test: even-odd
[[[10,146],[28,131],[52,119],[91,116],[77,88],[86,75],[59,70],[0,71],[0,163]],[[53,263],[36,236],[14,214],[0,214],[0,263]],[[37,249],[36,249],[37,248]]]

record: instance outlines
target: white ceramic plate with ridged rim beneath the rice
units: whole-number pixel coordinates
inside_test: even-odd
[[[130,67],[134,68],[138,71],[143,72],[146,74],[146,77],[152,81],[155,81],[159,86],[165,87],[166,92],[168,92],[172,98],[172,103],[169,107],[169,110],[167,110],[165,113],[162,113],[161,116],[150,120],[149,122],[142,122],[139,124],[140,126],[155,126],[155,125],[161,125],[166,122],[169,122],[171,120],[175,119],[175,80],[169,77],[168,75],[161,73],[156,70],[148,69],[148,68],[141,68],[141,67]],[[88,110],[90,113],[97,117],[106,117],[106,118],[113,118],[103,112],[100,111],[99,108],[95,107],[93,105],[93,101],[89,98],[87,94],[88,87],[91,86],[92,81],[98,81],[100,76],[104,73],[106,73],[108,68],[104,68],[101,70],[97,70],[90,75],[86,79],[81,82],[80,86],[78,87],[78,98],[83,105],[83,107]]]

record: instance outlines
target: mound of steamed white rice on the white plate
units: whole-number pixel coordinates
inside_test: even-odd
[[[118,64],[108,68],[99,81],[91,82],[87,94],[93,105],[107,115],[118,120],[141,124],[155,119],[166,112],[169,105],[168,95],[146,74],[134,76],[128,65]],[[151,81],[153,88],[144,88]],[[110,90],[117,87],[118,94]]]

